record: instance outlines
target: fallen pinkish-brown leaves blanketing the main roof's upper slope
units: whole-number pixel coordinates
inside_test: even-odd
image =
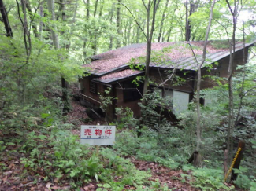
[[[196,55],[202,54],[203,42],[190,42]],[[209,53],[225,51],[226,49],[213,48],[211,44],[207,46]],[[91,73],[95,75],[104,75],[110,71],[127,66],[132,58],[145,57],[147,51],[147,43],[132,44],[124,46],[117,50],[110,50],[93,57],[95,61],[84,66],[91,68]],[[152,51],[162,53],[163,59],[171,61],[180,61],[181,59],[192,57],[193,53],[187,42],[158,42],[152,43]],[[159,55],[158,55],[159,57]]]

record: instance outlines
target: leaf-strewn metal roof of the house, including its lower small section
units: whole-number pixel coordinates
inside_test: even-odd
[[[221,43],[221,46],[228,46],[228,42],[210,41],[206,48],[206,64],[211,64],[221,60],[229,55],[228,48],[216,48],[216,42]],[[256,40],[254,41],[256,42]],[[246,43],[245,46],[252,46],[254,42]],[[197,57],[198,63],[202,61],[202,48],[204,42],[189,42]],[[215,46],[214,46],[215,43]],[[221,47],[219,44],[219,47]],[[236,51],[243,49],[243,42],[236,43]],[[117,79],[125,79],[129,76],[138,75],[135,70],[128,69],[128,63],[132,58],[145,57],[147,44],[132,44],[124,46],[117,50],[111,50],[106,53],[101,53],[93,57],[95,61],[90,64],[85,64],[85,67],[91,68],[91,74],[98,75],[99,78],[95,81],[107,83]],[[152,43],[152,59],[150,67],[159,68],[178,68],[185,70],[197,69],[197,62],[193,56],[193,52],[188,45],[188,42],[158,42]],[[145,58],[139,61],[135,60],[131,64],[143,64]]]

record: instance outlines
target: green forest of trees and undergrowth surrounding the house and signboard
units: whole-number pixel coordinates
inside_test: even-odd
[[[0,0],[0,13],[0,190],[256,190],[255,0]],[[150,64],[178,55],[174,42],[191,51],[195,94],[170,120],[173,100],[152,87],[189,73],[171,68],[156,85]],[[79,80],[97,55],[142,44],[124,63],[143,74],[140,116],[117,107],[109,119],[110,86],[91,117]],[[215,50],[226,76],[204,73]],[[97,124],[116,127],[114,145],[80,143],[81,125]]]

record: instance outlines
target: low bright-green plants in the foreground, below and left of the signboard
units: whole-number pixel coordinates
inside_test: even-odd
[[[20,145],[17,152],[23,153],[20,163],[27,169],[24,173],[40,171],[45,181],[65,180],[73,189],[86,184],[91,178],[102,182],[98,185],[100,188],[111,190],[123,190],[124,185],[139,187],[150,183],[150,175],[146,171],[137,170],[130,160],[122,158],[113,149],[102,148],[98,152],[81,145],[77,136],[66,130],[58,130],[66,128],[61,124],[53,127],[51,132],[44,128],[30,132],[16,130],[19,137],[13,142],[6,139],[0,142],[2,151],[6,146]]]

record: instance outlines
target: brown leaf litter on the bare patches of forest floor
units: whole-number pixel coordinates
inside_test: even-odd
[[[101,123],[100,121],[84,122],[84,119],[87,119],[87,114],[85,112],[86,108],[81,106],[78,101],[72,101],[72,112],[69,112],[67,116],[67,123],[72,123],[75,125],[75,128],[72,129],[72,134],[80,135],[80,125],[84,124],[95,124]],[[6,136],[0,131],[0,138]],[[18,138],[19,134],[9,134],[9,140]],[[6,138],[6,137],[5,137]],[[40,144],[45,144],[41,142]],[[1,146],[1,145],[0,145]],[[43,167],[32,169],[32,167],[24,167],[22,163],[22,158],[29,156],[30,153],[20,153],[17,150],[22,146],[21,144],[9,144],[6,145],[1,153],[0,158],[0,191],[7,190],[72,190],[69,182],[58,182],[58,178],[46,180],[46,172]],[[0,148],[1,149],[1,148]],[[46,152],[53,152],[46,150]],[[134,156],[126,156],[139,171],[150,171],[150,182],[159,182],[163,186],[168,186],[169,190],[176,191],[195,191],[200,189],[195,189],[189,184],[189,181],[184,181],[184,178],[181,177],[181,174],[191,173],[184,172],[182,170],[172,170],[168,167],[164,167],[159,163],[137,160]],[[30,171],[28,175],[28,171]],[[117,178],[118,180],[118,178]],[[80,187],[80,191],[85,190],[96,190],[98,189],[98,183],[95,179],[91,179],[91,182],[88,182],[87,185]],[[131,185],[125,185],[124,190],[135,190],[136,188]],[[156,189],[161,190],[161,189]]]

